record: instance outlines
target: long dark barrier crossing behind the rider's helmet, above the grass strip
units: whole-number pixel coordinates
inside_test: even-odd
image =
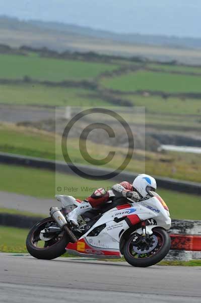
[[[43,168],[49,170],[55,170],[55,162],[51,160],[45,160],[40,158],[19,156],[14,154],[6,154],[0,153],[0,163],[11,164],[11,165],[23,165],[34,168]],[[77,167],[81,170],[85,171],[88,174],[106,174],[111,172],[109,169],[94,169],[93,166],[85,166],[81,164],[77,164]],[[66,163],[61,161],[56,161],[56,170],[62,173],[71,174],[71,164],[66,165]],[[133,181],[133,178],[137,176],[137,173],[129,173],[129,172],[120,172],[119,175],[115,177],[116,181],[127,180],[129,182]],[[201,183],[195,182],[187,182],[187,181],[179,181],[171,178],[162,178],[155,176],[157,180],[157,184],[161,188],[172,189],[180,192],[193,193],[193,194],[201,194]]]

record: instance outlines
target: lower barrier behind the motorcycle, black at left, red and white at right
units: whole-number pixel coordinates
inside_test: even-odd
[[[0,225],[31,228],[41,218],[0,214]],[[0,228],[1,229],[1,228]],[[171,249],[165,260],[201,259],[201,221],[172,220]]]

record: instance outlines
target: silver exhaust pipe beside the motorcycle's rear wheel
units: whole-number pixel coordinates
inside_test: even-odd
[[[51,207],[49,211],[50,211],[50,216],[58,224],[60,229],[64,230],[69,235],[72,243],[76,243],[78,239],[74,235],[74,233],[69,229],[68,222],[65,220],[65,217],[60,212],[60,210],[57,207]]]

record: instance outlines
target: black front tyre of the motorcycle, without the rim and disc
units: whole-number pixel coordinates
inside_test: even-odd
[[[152,266],[155,265],[157,263],[159,263],[161,260],[163,260],[163,258],[165,258],[165,256],[168,254],[168,251],[170,250],[170,246],[171,246],[171,240],[170,240],[170,236],[167,233],[166,230],[164,230],[163,228],[160,227],[156,227],[153,229],[153,234],[155,235],[160,235],[160,237],[162,238],[162,246],[160,247],[160,249],[155,253],[155,255],[150,256],[150,257],[145,257],[145,258],[135,258],[131,255],[131,246],[132,246],[132,240],[134,238],[134,235],[131,234],[129,236],[129,238],[127,239],[127,241],[125,242],[124,245],[124,258],[125,260],[132,266],[135,267],[148,267],[148,266]]]

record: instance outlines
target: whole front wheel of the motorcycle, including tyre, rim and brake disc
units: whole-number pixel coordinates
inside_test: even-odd
[[[153,229],[153,234],[145,238],[131,234],[124,245],[124,258],[132,266],[148,267],[160,262],[171,246],[170,236],[160,227]]]

